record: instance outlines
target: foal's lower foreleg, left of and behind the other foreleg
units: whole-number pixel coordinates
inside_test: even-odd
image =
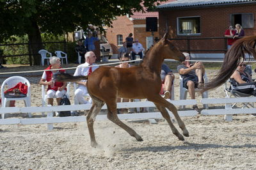
[[[179,133],[179,131],[177,130],[177,128],[175,128],[175,126],[172,123],[172,120],[170,118],[169,113],[166,111],[166,109],[163,106],[160,106],[156,103],[154,103],[157,107],[157,109],[159,109],[159,111],[161,112],[163,118],[168,122],[168,124],[170,125],[173,134],[175,134],[180,141],[184,141],[184,137]]]

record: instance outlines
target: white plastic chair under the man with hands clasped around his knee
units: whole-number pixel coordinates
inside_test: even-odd
[[[204,74],[204,82],[208,82],[208,77],[206,73]],[[195,92],[199,92],[200,89],[195,88]],[[180,77],[180,100],[185,100],[187,98],[188,89],[183,87],[183,79]],[[208,91],[205,91],[202,93],[202,98],[208,98]],[[180,109],[184,109],[184,105],[180,105]],[[204,104],[204,108],[208,109],[208,105]]]

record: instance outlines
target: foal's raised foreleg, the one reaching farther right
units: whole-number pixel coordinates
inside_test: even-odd
[[[173,113],[173,115],[175,116],[175,118],[178,122],[178,125],[183,132],[183,135],[186,137],[189,137],[188,130],[186,129],[184,122],[180,119],[180,116],[177,112],[177,108],[173,104],[171,104],[170,102],[165,100],[163,97],[161,97],[161,95],[155,95],[152,98],[148,98],[148,100],[151,102],[154,102],[155,104],[166,107],[169,111],[171,111]]]

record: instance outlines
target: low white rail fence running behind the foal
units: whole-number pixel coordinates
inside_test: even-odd
[[[169,100],[170,101],[170,100]],[[195,105],[196,100],[171,100],[172,104],[179,105]],[[256,113],[256,109],[232,109],[232,103],[244,103],[244,102],[256,102],[256,97],[241,97],[241,98],[202,98],[200,104],[225,104],[224,109],[203,109],[201,111],[202,115],[225,115],[226,121],[232,121],[232,114],[252,114]],[[3,113],[27,113],[27,112],[47,112],[47,117],[45,118],[8,118],[1,119],[0,125],[10,125],[10,124],[48,124],[48,129],[53,128],[52,123],[66,123],[66,122],[81,122],[86,121],[86,116],[68,116],[68,117],[52,117],[52,112],[54,111],[76,111],[76,110],[89,110],[91,104],[85,105],[61,105],[61,106],[51,106],[51,107],[1,107],[0,114]],[[124,102],[118,103],[117,108],[136,108],[136,107],[155,107],[152,102]],[[107,109],[106,105],[102,109]],[[191,111],[178,111],[180,116],[196,116],[198,112]],[[172,112],[169,111],[171,117],[173,117]],[[33,115],[33,114],[32,114]],[[133,113],[133,114],[118,114],[118,118],[121,120],[139,120],[139,119],[154,119],[163,118],[160,112],[144,112],[144,113]],[[96,120],[106,120],[106,115],[98,115]]]

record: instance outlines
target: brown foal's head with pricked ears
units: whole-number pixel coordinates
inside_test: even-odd
[[[157,43],[158,47],[163,47],[161,49],[164,59],[175,59],[178,61],[185,61],[185,56],[180,52],[175,45],[168,40],[168,33],[165,33],[164,37]]]

